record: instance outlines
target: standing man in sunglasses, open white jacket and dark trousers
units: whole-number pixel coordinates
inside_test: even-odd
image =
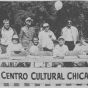
[[[78,30],[72,26],[71,20],[68,20],[67,26],[62,29],[62,36],[65,38],[65,44],[69,50],[72,51],[76,45],[78,38]]]

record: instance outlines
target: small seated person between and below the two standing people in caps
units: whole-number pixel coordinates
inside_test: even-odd
[[[33,38],[33,45],[27,49],[28,54],[35,56],[38,51],[42,51],[42,50],[43,50],[43,48],[39,44],[39,39],[37,37],[34,37]]]

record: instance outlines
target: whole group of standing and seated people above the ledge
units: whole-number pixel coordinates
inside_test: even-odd
[[[58,39],[50,30],[48,23],[43,24],[42,30],[36,36],[32,22],[32,18],[26,18],[25,26],[21,28],[20,34],[17,35],[15,29],[10,27],[10,21],[8,19],[3,21],[3,27],[0,29],[1,54],[12,55],[14,51],[25,52],[33,56],[48,55],[54,57],[63,57],[69,51],[78,51],[83,55],[87,54],[88,44],[83,38],[77,44],[78,29],[72,26],[71,20],[68,20]]]

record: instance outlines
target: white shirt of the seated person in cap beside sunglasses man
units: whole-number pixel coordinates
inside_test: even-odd
[[[68,47],[66,45],[63,45],[63,46],[59,46],[56,45],[54,50],[53,50],[53,56],[60,56],[60,55],[65,55],[65,53],[69,51],[68,50]]]

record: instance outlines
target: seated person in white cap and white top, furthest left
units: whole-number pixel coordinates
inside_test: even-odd
[[[19,43],[18,36],[14,35],[12,38],[12,42],[10,42],[8,47],[7,47],[7,55],[12,55],[15,52],[18,52],[17,54],[19,54],[21,51],[25,52],[23,46]]]

